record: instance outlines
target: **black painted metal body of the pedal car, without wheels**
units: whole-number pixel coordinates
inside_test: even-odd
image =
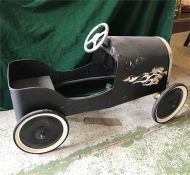
[[[64,72],[36,60],[11,62],[8,81],[17,120],[39,109],[52,109],[65,116],[99,110],[166,88],[171,63],[160,38],[109,36],[91,58],[85,66]],[[14,87],[15,81],[47,75],[55,90]],[[98,86],[101,90],[96,89]],[[85,94],[83,90],[91,92]]]

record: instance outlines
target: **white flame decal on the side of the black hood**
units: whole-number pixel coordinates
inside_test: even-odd
[[[167,71],[164,71],[163,67],[154,67],[150,73],[143,73],[140,76],[130,75],[124,82],[130,82],[133,84],[141,83],[143,86],[152,86],[158,84],[159,81],[167,74]]]

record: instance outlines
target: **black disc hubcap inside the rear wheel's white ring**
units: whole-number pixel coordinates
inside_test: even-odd
[[[43,116],[28,121],[20,131],[21,141],[31,148],[43,148],[55,143],[63,133],[61,122]]]

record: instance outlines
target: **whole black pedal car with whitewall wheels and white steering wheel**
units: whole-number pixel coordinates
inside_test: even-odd
[[[8,66],[8,84],[16,114],[13,138],[28,153],[45,153],[68,136],[66,116],[113,107],[152,93],[160,96],[152,117],[164,123],[182,108],[183,84],[169,87],[172,66],[169,44],[160,37],[108,36],[101,23],[87,36],[88,64],[55,71],[37,60]]]

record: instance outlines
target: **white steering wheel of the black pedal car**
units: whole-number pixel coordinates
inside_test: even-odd
[[[100,30],[103,28],[103,31],[98,33],[96,30]],[[109,27],[106,23],[100,23],[95,26],[84,42],[84,50],[88,53],[94,52],[97,50],[105,41],[106,37],[108,36]]]

